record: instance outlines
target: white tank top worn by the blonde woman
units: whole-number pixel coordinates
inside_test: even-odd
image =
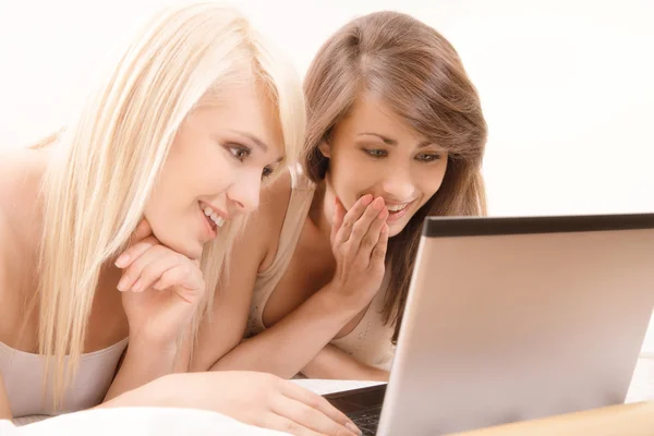
[[[75,412],[102,402],[128,339],[81,356],[75,379],[63,396],[62,408],[57,412],[51,409],[51,390],[48,389],[44,395],[43,389],[46,356],[15,350],[0,342],[0,374],[4,379],[13,417]]]

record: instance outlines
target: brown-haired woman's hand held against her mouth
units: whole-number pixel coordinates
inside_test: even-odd
[[[330,240],[337,266],[330,288],[355,304],[368,304],[384,280],[387,218],[382,197],[364,195],[348,211],[336,199]]]

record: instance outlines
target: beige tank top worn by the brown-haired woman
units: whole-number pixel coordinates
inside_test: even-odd
[[[302,173],[300,167],[291,169],[291,197],[281,227],[279,245],[270,266],[257,275],[250,307],[246,337],[265,329],[263,313],[266,302],[281,280],[291,262],[300,233],[304,227],[313,201],[315,186]],[[380,370],[390,370],[395,353],[391,342],[393,328],[384,325],[382,310],[384,295],[388,290],[389,275],[384,278],[379,292],[373,299],[361,322],[348,335],[332,339],[331,344],[347,352],[356,361]]]

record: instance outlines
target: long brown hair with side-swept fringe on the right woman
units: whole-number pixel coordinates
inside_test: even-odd
[[[486,214],[481,167],[487,128],[476,88],[439,33],[410,15],[385,11],[349,22],[323,45],[304,93],[307,131],[301,161],[316,183],[329,166],[318,146],[366,93],[448,152],[440,189],[388,244],[391,292],[384,318],[395,324],[396,342],[425,217]]]

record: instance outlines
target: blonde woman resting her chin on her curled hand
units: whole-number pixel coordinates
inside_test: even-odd
[[[172,374],[303,133],[292,68],[237,12],[197,2],[153,19],[60,134],[2,156],[0,417],[175,405],[354,434],[275,377]]]

